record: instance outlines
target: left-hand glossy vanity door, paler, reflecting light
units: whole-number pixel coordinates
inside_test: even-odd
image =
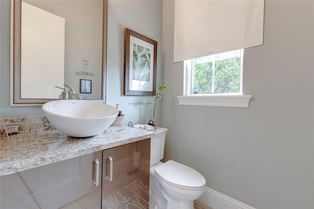
[[[100,182],[95,187],[96,159]],[[99,151],[3,176],[0,208],[100,209],[101,161],[102,151]]]

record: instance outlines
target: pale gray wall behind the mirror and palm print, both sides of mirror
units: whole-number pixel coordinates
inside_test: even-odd
[[[0,63],[0,118],[42,116],[41,106],[10,106],[10,1],[1,4],[1,63]],[[107,91],[106,102],[126,115],[125,125],[131,121],[148,123],[153,115],[153,96],[123,96],[124,82],[124,28],[128,27],[158,42],[157,82],[161,80],[162,1],[160,0],[110,0],[108,2],[107,33]],[[147,105],[133,107],[129,103],[142,100]],[[161,123],[161,101],[157,101],[156,118]]]

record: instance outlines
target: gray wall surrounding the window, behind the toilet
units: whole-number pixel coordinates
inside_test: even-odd
[[[180,106],[174,2],[163,3],[165,158],[256,208],[314,208],[314,1],[265,1],[263,45],[244,50],[249,108]]]

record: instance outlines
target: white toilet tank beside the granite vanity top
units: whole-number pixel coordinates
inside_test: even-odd
[[[151,166],[163,158],[165,136],[168,129],[157,127],[155,136],[151,138]]]

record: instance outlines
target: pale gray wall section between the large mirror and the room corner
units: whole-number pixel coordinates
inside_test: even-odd
[[[120,104],[126,115],[125,124],[147,124],[153,116],[154,96],[121,96],[124,82],[124,28],[129,28],[157,41],[157,83],[162,74],[162,1],[110,0],[108,5],[107,104]],[[134,100],[147,105],[133,106]],[[148,104],[150,103],[150,104]],[[155,117],[161,124],[161,101],[158,99]]]

